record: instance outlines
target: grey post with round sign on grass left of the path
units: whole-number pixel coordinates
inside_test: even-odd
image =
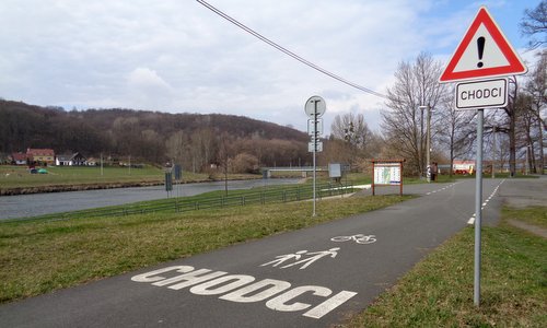
[[[304,112],[305,114],[310,117],[309,119],[309,127],[312,127],[312,130],[309,131],[311,134],[311,142],[310,142],[310,148],[312,149],[313,152],[313,216],[316,216],[316,197],[315,197],[315,189],[316,189],[316,174],[317,174],[317,165],[316,165],[316,153],[321,149],[323,149],[323,144],[321,144],[319,141],[319,129],[318,129],[318,124],[319,124],[319,117],[325,114],[325,110],[327,109],[327,105],[325,104],[325,99],[323,99],[319,96],[312,96],[307,99],[307,102],[304,105]],[[323,129],[322,129],[323,130]]]

